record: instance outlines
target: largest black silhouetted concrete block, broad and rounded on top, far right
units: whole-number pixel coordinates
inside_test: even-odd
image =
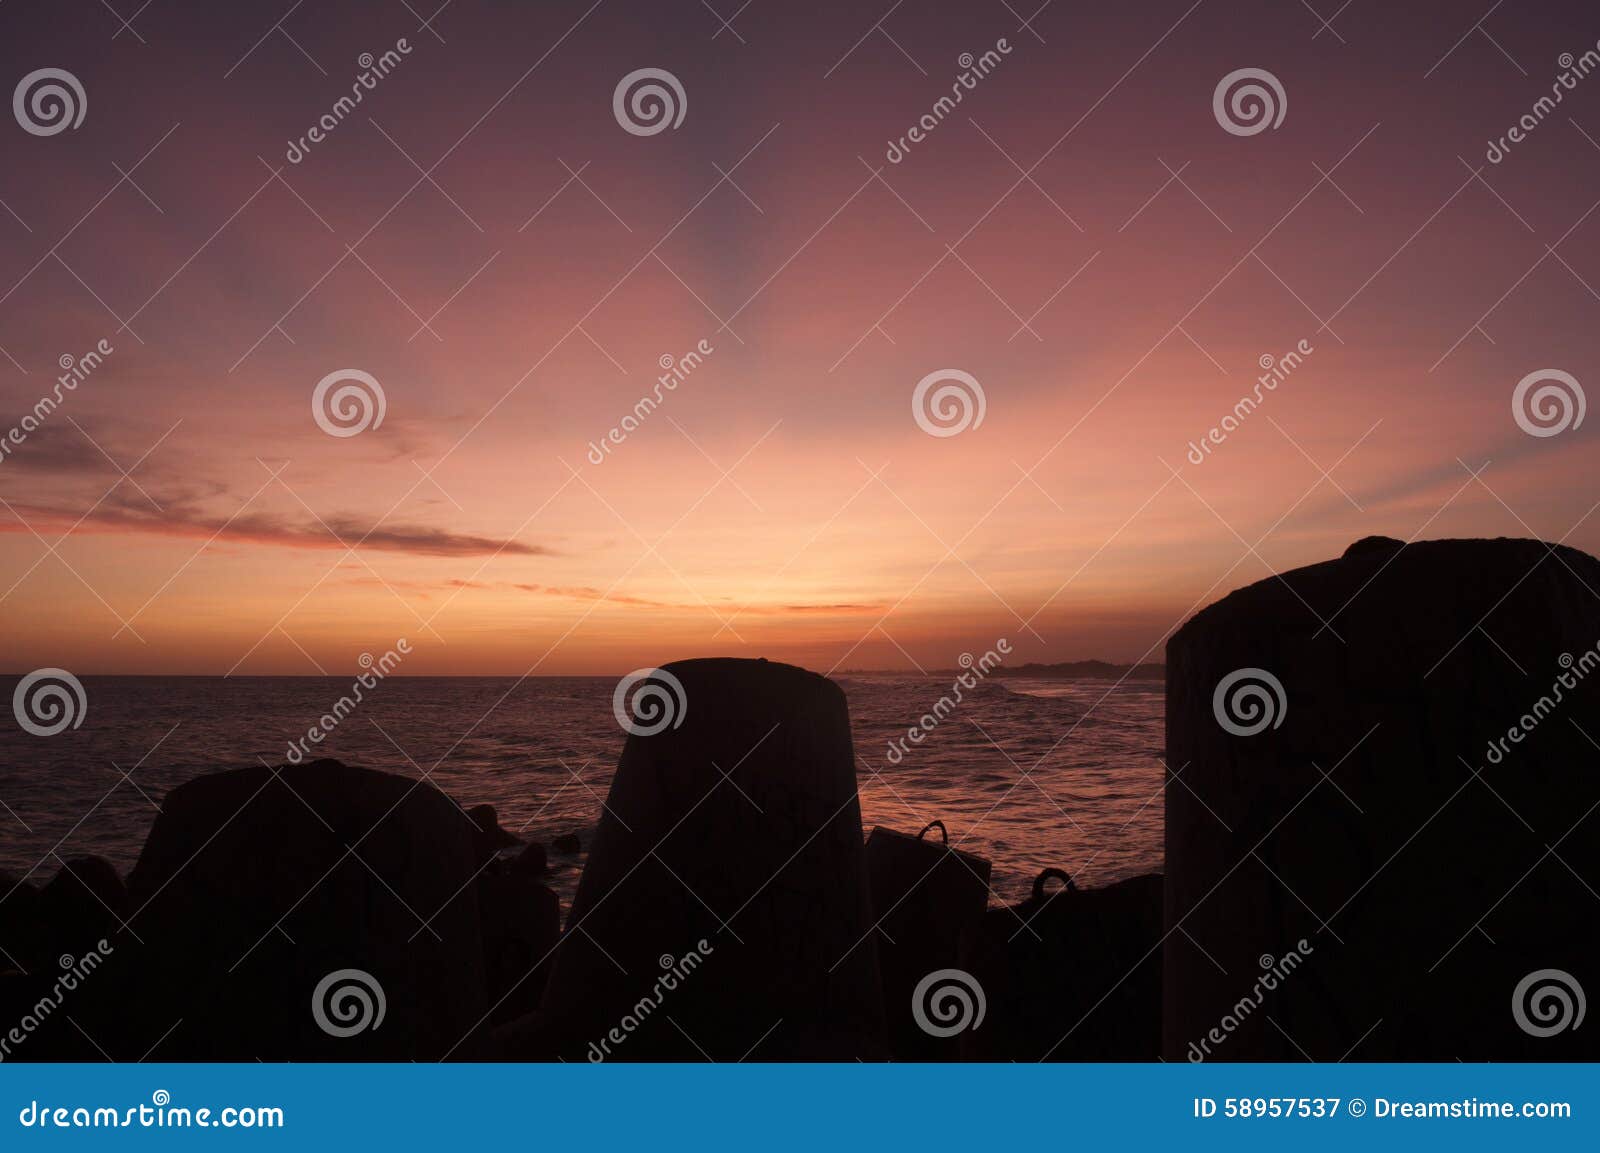
[[[1514,1011],[1544,971],[1600,990],[1597,644],[1600,561],[1538,541],[1370,537],[1186,624],[1166,1059],[1600,1057]]]

